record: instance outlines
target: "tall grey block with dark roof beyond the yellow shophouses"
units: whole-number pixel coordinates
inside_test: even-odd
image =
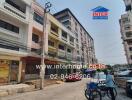
[[[75,34],[75,58],[77,58],[77,63],[97,63],[94,50],[94,40],[74,14],[67,8],[54,14],[54,16]]]

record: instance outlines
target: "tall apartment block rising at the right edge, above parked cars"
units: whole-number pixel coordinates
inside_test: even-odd
[[[121,16],[121,35],[128,64],[132,64],[132,0],[124,0],[126,13]]]

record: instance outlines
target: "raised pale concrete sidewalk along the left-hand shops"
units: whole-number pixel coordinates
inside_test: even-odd
[[[30,84],[13,84],[13,85],[0,86],[0,97],[39,90],[40,80],[30,80],[27,81],[26,83],[30,83]],[[45,80],[44,87],[53,84],[61,84],[61,83],[63,82],[58,80]]]

